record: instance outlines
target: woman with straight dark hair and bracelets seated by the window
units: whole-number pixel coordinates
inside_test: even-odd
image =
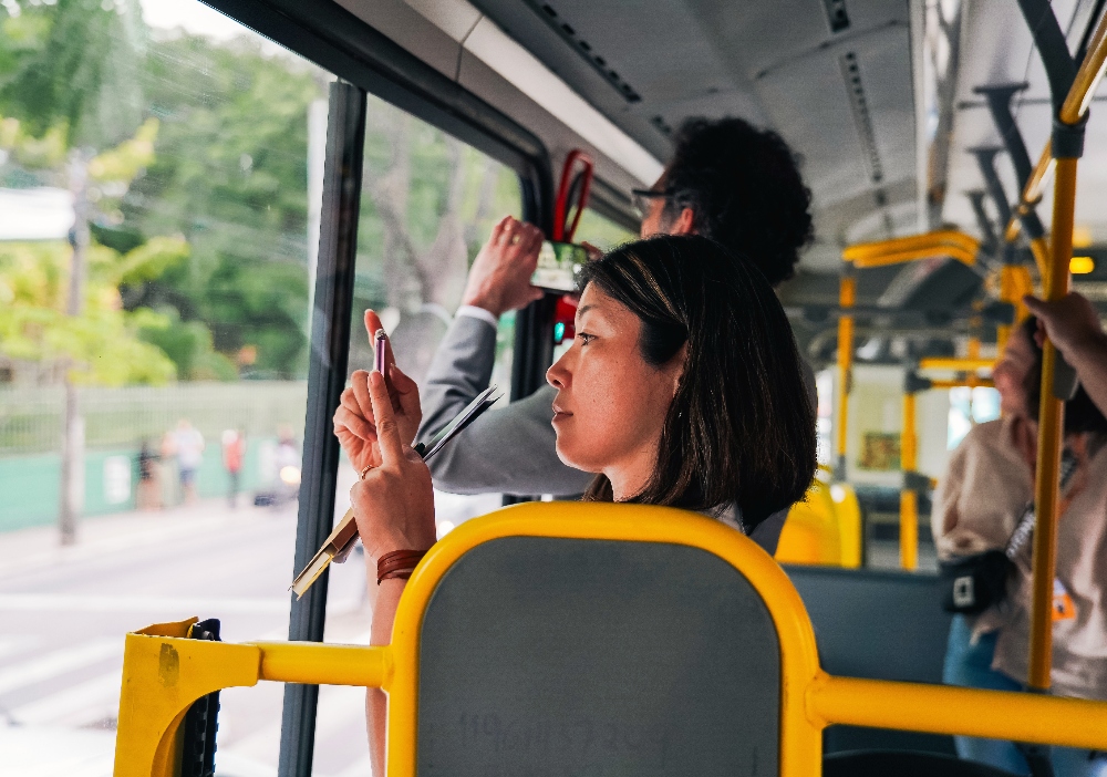
[[[706,238],[656,237],[592,262],[581,283],[576,340],[547,380],[558,456],[597,474],[587,499],[699,510],[748,532],[804,497],[815,413],[787,318],[755,268]],[[335,414],[364,467],[351,498],[370,577],[382,556],[435,539],[431,475],[408,445],[417,391],[394,364],[389,383],[355,376]],[[371,586],[374,644],[390,642],[404,587],[387,574],[412,567]],[[370,692],[369,714],[383,742],[382,693]]]

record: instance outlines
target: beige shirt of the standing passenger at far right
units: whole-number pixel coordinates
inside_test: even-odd
[[[1072,607],[1053,624],[1053,691],[1107,700],[1107,445],[1089,441],[1063,497],[1057,580]],[[974,427],[950,459],[934,495],[931,527],[939,557],[1004,548],[1033,497],[1034,475],[1015,447],[1010,419]],[[1000,630],[993,669],[1025,682],[1030,653],[1028,555],[1007,600],[977,617],[974,631]]]

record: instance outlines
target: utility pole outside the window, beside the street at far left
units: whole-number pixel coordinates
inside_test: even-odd
[[[70,190],[73,193],[73,228],[70,230],[70,246],[73,258],[70,261],[69,301],[65,313],[77,318],[84,310],[84,277],[89,253],[89,162],[91,154],[76,148],[70,155]],[[70,360],[65,365],[65,414],[62,426],[62,473],[60,510],[61,543],[76,542],[76,521],[84,509],[84,417],[70,375]]]

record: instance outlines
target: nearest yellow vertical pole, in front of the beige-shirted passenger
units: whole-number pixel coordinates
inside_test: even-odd
[[[1068,293],[1068,265],[1073,258],[1073,220],[1076,208],[1075,158],[1057,159],[1053,195],[1053,250],[1042,283],[1047,300]],[[1064,436],[1064,404],[1053,394],[1057,350],[1046,340],[1042,356],[1042,401],[1038,405],[1038,449],[1034,501],[1034,604],[1031,612],[1031,659],[1028,684],[1049,690],[1053,666],[1053,579],[1057,566],[1057,518],[1059,511],[1061,446]]]

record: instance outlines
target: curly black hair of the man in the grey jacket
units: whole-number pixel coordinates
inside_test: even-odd
[[[814,229],[811,191],[784,138],[741,118],[692,118],[675,145],[665,217],[692,208],[696,234],[748,257],[772,286],[792,278]]]

